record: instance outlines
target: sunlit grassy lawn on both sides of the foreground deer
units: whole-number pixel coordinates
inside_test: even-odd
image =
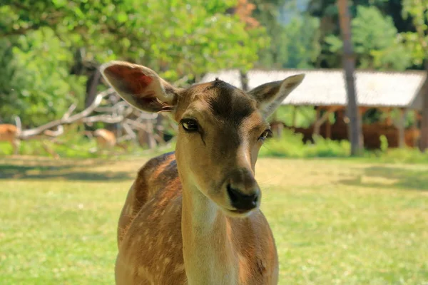
[[[146,158],[0,158],[0,284],[113,284]],[[280,284],[428,284],[428,165],[260,159]]]

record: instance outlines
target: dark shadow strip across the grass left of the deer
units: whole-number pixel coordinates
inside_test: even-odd
[[[129,172],[103,171],[92,172],[92,166],[99,166],[108,162],[94,161],[79,166],[78,163],[62,163],[60,165],[14,165],[0,164],[0,180],[130,180],[133,175]],[[76,167],[78,167],[76,169]]]

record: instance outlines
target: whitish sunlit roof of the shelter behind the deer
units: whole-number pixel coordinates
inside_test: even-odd
[[[345,73],[342,70],[314,69],[282,71],[251,70],[248,87],[255,88],[270,81],[280,81],[288,76],[305,73],[305,80],[287,98],[283,105],[346,105]],[[421,107],[418,98],[424,82],[423,71],[380,72],[356,71],[355,86],[358,104],[377,107]],[[202,82],[219,79],[242,88],[238,70],[208,73]]]

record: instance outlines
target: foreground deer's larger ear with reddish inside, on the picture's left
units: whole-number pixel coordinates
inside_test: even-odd
[[[126,61],[104,63],[101,74],[126,102],[139,110],[160,112],[175,110],[178,88],[145,66]]]

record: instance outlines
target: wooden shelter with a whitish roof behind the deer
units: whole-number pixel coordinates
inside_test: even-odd
[[[287,69],[279,71],[251,70],[247,73],[248,89],[255,88],[270,81],[280,81],[288,76],[305,73],[305,80],[285,100],[283,105],[313,106],[317,111],[316,120],[309,129],[293,128],[297,133],[304,133],[306,137],[322,135],[333,140],[347,139],[347,118],[345,108],[347,94],[345,77],[341,69]],[[424,83],[423,71],[384,72],[363,71],[355,72],[355,86],[357,103],[360,114],[363,115],[372,108],[387,113],[387,119],[382,123],[363,125],[365,145],[369,148],[379,147],[379,136],[385,135],[390,147],[415,146],[419,137],[417,125],[406,130],[404,128],[405,115],[409,111],[415,114],[415,122],[419,122],[422,109],[420,93]],[[238,70],[225,70],[217,73],[208,73],[203,82],[213,81],[216,77],[233,86],[243,87],[242,76]],[[392,122],[390,112],[399,110],[400,118]],[[330,125],[329,115],[335,113],[336,123]],[[287,127],[287,126],[286,126]],[[371,142],[372,140],[372,142]],[[367,143],[366,143],[367,142]]]

